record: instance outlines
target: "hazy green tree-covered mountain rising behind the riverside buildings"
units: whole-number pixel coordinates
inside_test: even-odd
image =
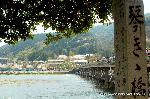
[[[114,49],[113,27],[113,24],[94,26],[87,33],[64,38],[49,45],[44,44],[45,34],[36,34],[33,40],[0,47],[0,57],[29,61],[48,60],[60,54],[98,54],[109,57],[112,56]],[[147,47],[150,48],[150,14],[145,16],[145,32]]]

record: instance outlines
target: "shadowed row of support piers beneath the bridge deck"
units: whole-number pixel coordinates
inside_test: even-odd
[[[114,67],[85,67],[76,69],[74,73],[83,78],[97,81],[105,89],[111,89],[114,88],[113,70]]]

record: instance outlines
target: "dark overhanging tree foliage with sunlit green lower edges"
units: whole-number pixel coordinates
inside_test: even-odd
[[[97,19],[103,22],[112,12],[112,0],[0,0],[0,38],[14,44],[32,37],[39,23],[57,33],[47,42],[86,32]],[[97,17],[96,17],[97,16]]]

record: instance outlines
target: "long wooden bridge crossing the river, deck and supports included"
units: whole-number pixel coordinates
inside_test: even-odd
[[[85,64],[73,70],[73,73],[84,78],[92,78],[100,81],[107,89],[114,88],[115,65],[99,65],[98,63]],[[150,72],[150,64],[147,64],[147,74]]]

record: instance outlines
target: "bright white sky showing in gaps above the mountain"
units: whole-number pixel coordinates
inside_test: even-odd
[[[144,13],[150,13],[150,0],[143,0],[143,3],[144,3]],[[97,24],[98,25],[98,24]],[[39,25],[37,26],[36,28],[37,30],[33,31],[34,34],[37,34],[37,33],[48,33],[48,32],[51,32],[52,29],[49,28],[48,30],[44,31],[44,28],[42,27],[42,25]],[[0,46],[4,45],[5,43],[4,42],[0,42]]]

